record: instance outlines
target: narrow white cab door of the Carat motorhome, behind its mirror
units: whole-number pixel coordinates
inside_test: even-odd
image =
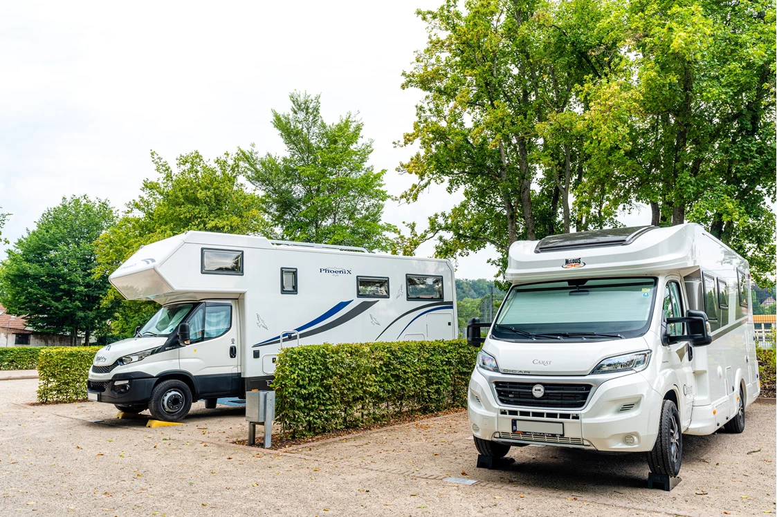
[[[682,317],[685,315],[685,300],[682,298],[680,279],[670,277],[664,286],[664,318]],[[669,335],[684,335],[685,324],[672,323],[667,324]],[[691,415],[693,411],[693,399],[695,396],[695,376],[691,359],[693,349],[688,342],[678,342],[672,345],[664,346],[664,361],[666,367],[674,370],[678,380],[678,391],[680,392],[680,420],[682,428],[685,429],[691,425]]]

